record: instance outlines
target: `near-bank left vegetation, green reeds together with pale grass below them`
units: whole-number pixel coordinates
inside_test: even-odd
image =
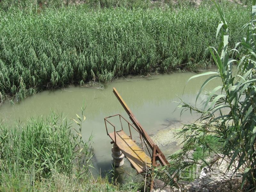
[[[0,191],[121,190],[107,177],[92,177],[92,138],[84,142],[80,134],[83,113],[76,125],[53,112],[25,126],[0,124]]]

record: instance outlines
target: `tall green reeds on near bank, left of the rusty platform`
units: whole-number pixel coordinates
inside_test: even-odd
[[[84,108],[82,108],[82,115]],[[78,116],[79,117],[79,116]],[[82,140],[81,127],[62,114],[52,112],[46,119],[31,118],[27,125],[7,127],[0,124],[0,183],[9,188],[13,181],[29,177],[30,185],[56,174],[77,180],[89,178],[93,150],[92,137]]]

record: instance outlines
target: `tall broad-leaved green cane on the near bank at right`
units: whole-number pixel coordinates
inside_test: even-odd
[[[188,81],[199,76],[212,75],[202,85],[197,98],[204,86],[212,79],[220,78],[222,84],[205,93],[207,98],[204,100],[202,108],[192,106],[181,100],[179,108],[195,111],[201,114],[201,117],[198,122],[185,125],[179,132],[179,135],[184,137],[184,148],[176,154],[176,163],[179,163],[179,168],[185,170],[192,164],[197,164],[197,158],[190,158],[189,162],[184,160],[186,160],[191,146],[201,146],[204,151],[208,151],[208,154],[215,156],[210,164],[219,159],[229,160],[228,170],[233,165],[235,167],[233,173],[239,169],[243,171],[241,189],[255,191],[256,1],[252,1],[251,22],[245,26],[247,29],[246,37],[244,40],[241,39],[243,41],[236,44],[234,49],[229,45],[229,22],[224,15],[225,11],[218,2],[215,5],[220,14],[216,36],[221,31],[221,41],[218,48],[209,47],[209,50],[218,72],[199,74],[189,78]],[[235,55],[235,52],[238,55]],[[208,142],[209,137],[215,138],[220,143],[218,150]],[[203,160],[204,157],[201,158]]]

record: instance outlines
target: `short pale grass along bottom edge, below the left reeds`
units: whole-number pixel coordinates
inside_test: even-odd
[[[63,174],[54,174],[49,179],[36,181],[34,185],[29,184],[29,174],[22,174],[20,177],[12,179],[8,184],[10,187],[0,187],[0,191],[35,191],[35,192],[60,192],[60,191],[90,191],[90,192],[114,192],[114,191],[134,191],[122,186],[114,186],[108,182],[108,178],[86,177],[83,180],[77,180],[74,176],[67,176]]]

